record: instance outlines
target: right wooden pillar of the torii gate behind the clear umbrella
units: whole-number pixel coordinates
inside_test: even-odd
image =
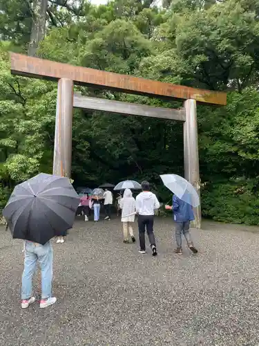
[[[199,151],[198,151],[198,124],[196,101],[186,100],[184,102],[186,111],[186,121],[184,122],[184,174],[197,190],[200,196],[200,170],[199,170]],[[202,226],[201,207],[194,208],[195,227]]]

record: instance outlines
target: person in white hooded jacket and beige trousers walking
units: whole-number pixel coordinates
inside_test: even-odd
[[[130,189],[126,189],[123,194],[123,198],[119,202],[119,206],[122,209],[122,226],[124,243],[128,244],[128,233],[131,236],[131,240],[135,243],[136,239],[133,234],[133,222],[135,221],[136,201],[132,196]]]

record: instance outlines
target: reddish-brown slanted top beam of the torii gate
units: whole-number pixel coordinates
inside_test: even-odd
[[[170,83],[145,80],[131,75],[119,75],[86,67],[72,66],[11,53],[11,72],[15,75],[24,75],[33,78],[44,78],[47,80],[59,80],[68,78],[75,84],[98,87],[134,93],[137,95],[148,95],[164,98],[178,98],[181,100],[193,99],[209,104],[227,104],[227,94],[217,91],[194,89]]]

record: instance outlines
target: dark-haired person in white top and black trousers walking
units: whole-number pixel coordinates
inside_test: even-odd
[[[142,192],[136,198],[136,212],[138,217],[140,253],[146,253],[145,231],[151,245],[153,256],[157,255],[155,235],[153,230],[155,210],[160,208],[160,203],[155,194],[150,192],[148,181],[142,181]]]

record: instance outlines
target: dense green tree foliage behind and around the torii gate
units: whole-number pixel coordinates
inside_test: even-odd
[[[117,73],[228,92],[227,107],[199,105],[204,217],[259,224],[259,6],[256,0],[48,1],[38,54]],[[0,209],[15,184],[52,172],[57,85],[10,75],[8,51],[25,52],[32,0],[0,0]],[[77,86],[85,95],[162,107],[182,102]],[[183,174],[182,124],[74,111],[75,185]]]

